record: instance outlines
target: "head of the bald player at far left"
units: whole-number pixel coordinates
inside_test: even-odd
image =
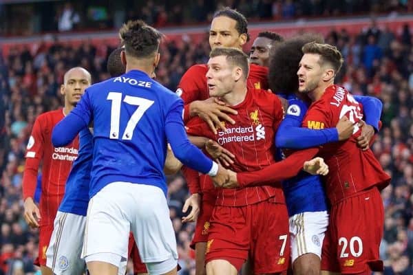
[[[66,74],[65,83],[61,86],[61,93],[65,96],[65,102],[76,105],[90,84],[89,74],[85,70],[72,69]]]

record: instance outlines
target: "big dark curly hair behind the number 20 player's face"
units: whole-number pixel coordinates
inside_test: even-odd
[[[298,91],[298,65],[303,57],[302,47],[316,41],[324,43],[319,34],[304,34],[293,37],[273,48],[270,54],[268,85],[275,94],[294,94]]]

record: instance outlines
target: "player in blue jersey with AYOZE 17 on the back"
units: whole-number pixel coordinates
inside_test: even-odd
[[[119,35],[126,74],[89,87],[72,115],[56,125],[52,140],[56,146],[70,142],[94,122],[82,252],[89,272],[117,274],[132,231],[149,273],[176,274],[176,239],[162,171],[167,142],[180,162],[217,182],[227,181],[228,172],[191,145],[182,100],[151,78],[161,34],[142,21],[129,21]]]

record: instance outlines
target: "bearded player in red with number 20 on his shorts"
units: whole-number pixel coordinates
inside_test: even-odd
[[[297,72],[299,92],[313,101],[301,126],[324,129],[346,116],[354,122],[350,139],[320,148],[298,151],[284,161],[254,173],[233,175],[227,186],[254,184],[279,178],[316,154],[324,157],[330,168],[326,193],[331,203],[330,226],[324,239],[322,274],[370,274],[383,271],[379,245],[383,235],[384,211],[379,191],[390,182],[370,148],[357,146],[363,118],[362,105],[344,88],[334,84],[343,62],[336,47],[308,43]],[[286,170],[288,168],[288,170]]]

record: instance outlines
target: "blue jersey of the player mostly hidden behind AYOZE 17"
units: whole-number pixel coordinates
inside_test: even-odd
[[[65,196],[59,211],[86,216],[89,203],[90,172],[92,170],[92,133],[84,128],[79,133],[78,157],[67,177]]]

